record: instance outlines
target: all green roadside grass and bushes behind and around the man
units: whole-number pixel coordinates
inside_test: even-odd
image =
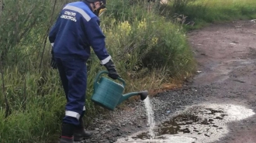
[[[56,140],[65,97],[57,70],[50,68],[47,34],[71,0],[4,0],[0,14],[0,142]],[[1,5],[0,5],[1,6]],[[14,9],[15,8],[15,9]],[[178,87],[196,71],[186,32],[212,22],[256,19],[254,0],[112,0],[101,16],[106,45],[125,92],[150,94]],[[108,111],[90,100],[96,73],[105,70],[92,53],[88,60],[86,124]]]

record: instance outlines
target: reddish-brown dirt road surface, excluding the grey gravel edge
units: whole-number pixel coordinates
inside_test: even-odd
[[[189,33],[202,71],[193,86],[210,85],[209,102],[239,104],[256,111],[256,23],[213,24]],[[228,124],[218,143],[256,143],[256,116]]]

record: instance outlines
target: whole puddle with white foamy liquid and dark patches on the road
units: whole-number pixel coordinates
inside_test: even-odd
[[[155,138],[149,131],[121,138],[116,143],[160,142],[212,142],[228,133],[227,123],[240,121],[254,115],[251,109],[234,104],[200,104],[187,108],[154,128]]]

